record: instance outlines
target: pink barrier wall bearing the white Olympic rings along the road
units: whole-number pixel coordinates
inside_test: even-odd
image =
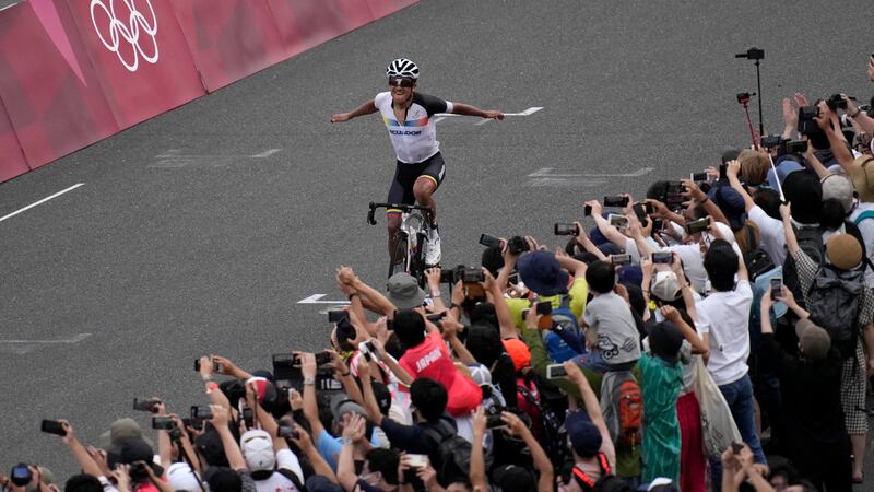
[[[28,0],[0,10],[0,181],[417,0]]]

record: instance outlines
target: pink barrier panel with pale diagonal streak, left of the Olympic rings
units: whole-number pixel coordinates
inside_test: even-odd
[[[62,0],[0,12],[0,98],[32,169],[118,131],[74,31]]]

